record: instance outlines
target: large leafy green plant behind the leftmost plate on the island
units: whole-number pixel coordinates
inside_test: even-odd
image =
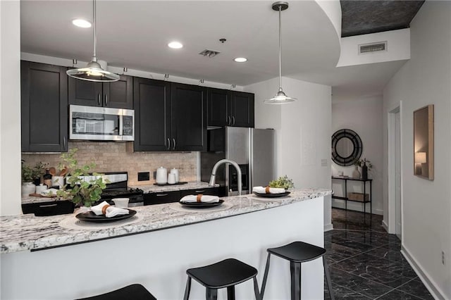
[[[78,206],[90,207],[100,199],[100,194],[106,187],[107,181],[101,177],[102,174],[92,173],[96,167],[95,163],[78,165],[78,161],[75,159],[77,151],[76,148],[70,149],[68,153],[61,155],[63,163],[60,163],[58,168],[62,170],[66,167],[69,174],[66,175],[66,185],[56,194],[64,199],[70,199]],[[92,179],[81,180],[81,176],[91,176]]]

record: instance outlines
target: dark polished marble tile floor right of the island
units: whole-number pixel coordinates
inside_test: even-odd
[[[382,216],[332,209],[324,246],[335,299],[433,299],[389,235]],[[330,299],[325,286],[324,299]]]

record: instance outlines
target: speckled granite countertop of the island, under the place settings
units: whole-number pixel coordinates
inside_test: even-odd
[[[330,189],[295,189],[283,198],[260,198],[254,194],[223,197],[226,209],[209,211],[204,209],[181,209],[178,203],[139,206],[133,208],[137,214],[129,223],[107,223],[106,227],[68,229],[68,221],[77,220],[74,214],[35,217],[35,215],[13,215],[0,217],[0,253],[39,250],[55,246],[68,246],[80,242],[93,242],[125,235],[150,232],[165,228],[189,225],[243,213],[252,213],[268,208],[292,204],[307,199],[331,194]],[[218,206],[220,208],[221,206]],[[212,208],[209,208],[212,209]],[[118,222],[124,222],[118,221]],[[86,223],[85,223],[86,224]],[[91,223],[89,223],[90,225]],[[95,227],[96,223],[92,223]],[[76,225],[74,225],[76,227]],[[76,227],[78,228],[78,227]]]

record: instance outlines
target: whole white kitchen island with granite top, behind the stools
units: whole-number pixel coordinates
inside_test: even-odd
[[[323,196],[299,189],[280,199],[224,197],[223,208],[184,210],[180,204],[133,208],[133,220],[110,227],[74,227],[74,215],[1,217],[1,299],[75,299],[141,283],[157,299],[182,299],[185,270],[234,257],[259,270],[266,248],[302,240],[323,245]],[[125,221],[125,220],[124,220]],[[123,221],[121,221],[123,222]],[[321,260],[305,263],[302,296],[321,299]],[[307,276],[308,274],[308,276]],[[252,282],[237,298],[252,299]],[[266,299],[289,299],[286,261],[271,260]],[[218,293],[223,299],[225,291]],[[190,299],[204,299],[195,282]]]

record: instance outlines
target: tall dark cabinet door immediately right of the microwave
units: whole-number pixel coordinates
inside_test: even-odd
[[[135,151],[167,151],[171,147],[170,83],[134,77]]]

